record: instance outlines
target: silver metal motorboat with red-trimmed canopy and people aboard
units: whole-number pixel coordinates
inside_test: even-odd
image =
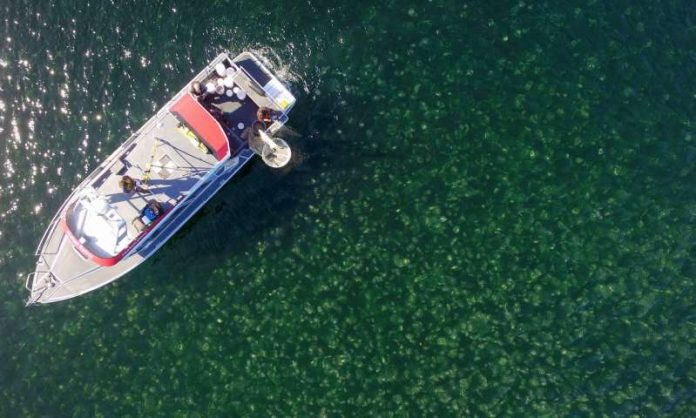
[[[253,53],[218,55],[65,200],[37,247],[27,305],[133,270],[255,155],[287,164],[291,151],[274,136],[295,101]]]

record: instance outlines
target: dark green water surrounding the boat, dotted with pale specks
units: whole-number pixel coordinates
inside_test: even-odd
[[[0,2],[0,416],[696,416],[687,1]],[[298,97],[115,284],[70,190],[219,51]]]

